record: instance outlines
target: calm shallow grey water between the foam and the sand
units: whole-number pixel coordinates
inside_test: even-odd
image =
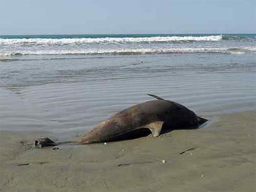
[[[152,93],[196,114],[255,110],[255,54],[150,54],[1,65],[1,129],[74,136]]]

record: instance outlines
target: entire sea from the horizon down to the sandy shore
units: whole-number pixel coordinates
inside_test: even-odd
[[[0,36],[0,129],[85,132],[150,100],[255,110],[256,35]]]

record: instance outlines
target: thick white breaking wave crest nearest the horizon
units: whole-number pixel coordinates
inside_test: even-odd
[[[140,43],[140,42],[190,42],[190,41],[220,41],[221,35],[212,36],[153,36],[124,38],[0,38],[0,44],[35,44],[35,45],[69,45],[97,44],[104,42]]]

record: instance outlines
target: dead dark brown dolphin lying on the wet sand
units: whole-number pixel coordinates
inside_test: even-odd
[[[148,95],[155,97],[157,100],[149,100],[124,109],[74,141],[55,143],[49,138],[40,138],[35,141],[35,145],[46,147],[63,143],[101,143],[113,141],[127,132],[145,128],[148,128],[153,136],[157,137],[161,134],[163,127],[186,129],[186,127],[198,127],[207,122],[206,119],[196,116],[193,111],[182,106],[182,104],[164,100],[156,95]]]

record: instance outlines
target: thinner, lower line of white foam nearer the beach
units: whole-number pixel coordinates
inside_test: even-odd
[[[159,53],[256,53],[256,47],[185,47],[185,48],[138,48],[138,49],[63,49],[38,51],[0,51],[0,56],[60,55],[60,54],[159,54]]]

